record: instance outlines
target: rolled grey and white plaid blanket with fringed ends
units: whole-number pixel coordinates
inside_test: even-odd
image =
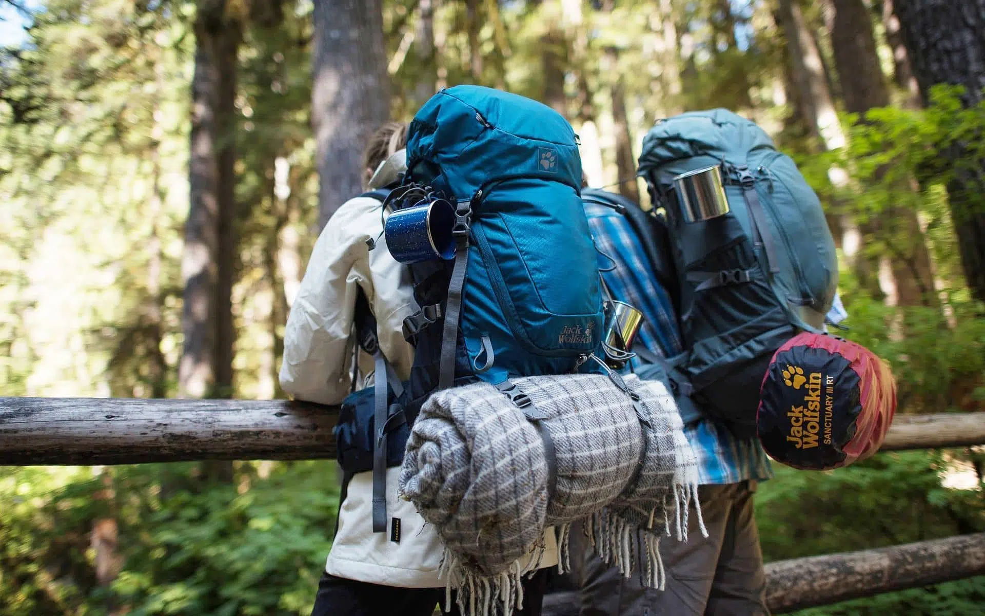
[[[670,510],[682,539],[690,500],[698,507],[694,454],[666,387],[628,376],[634,405],[608,376],[514,382],[533,402],[526,414],[488,383],[446,389],[427,400],[407,443],[401,496],[443,540],[461,610],[522,607],[520,577],[539,563],[521,567],[520,558],[558,526],[563,571],[578,519],[603,560],[626,577],[640,563],[644,583],[662,588],[658,543],[670,533]]]

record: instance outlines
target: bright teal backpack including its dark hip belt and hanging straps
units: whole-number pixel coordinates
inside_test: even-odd
[[[344,486],[373,470],[374,532],[387,527],[385,470],[401,463],[431,392],[490,382],[549,443],[544,417],[510,379],[600,372],[589,359],[601,348],[603,305],[580,187],[577,137],[547,105],[457,86],[414,116],[400,185],[367,196],[394,211],[421,203],[422,194],[454,204],[456,247],[451,261],[408,266],[421,307],[404,320],[415,347],[408,381],[397,380],[379,352],[367,303],[357,310],[375,382],[346,399],[335,435]]]

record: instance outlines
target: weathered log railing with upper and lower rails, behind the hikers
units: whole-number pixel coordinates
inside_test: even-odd
[[[335,456],[337,407],[284,400],[0,398],[0,465]],[[897,416],[881,450],[985,444],[985,413]],[[985,533],[766,565],[776,613],[985,574]],[[576,593],[545,601],[575,614]]]

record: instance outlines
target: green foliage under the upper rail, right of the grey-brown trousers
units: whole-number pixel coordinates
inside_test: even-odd
[[[846,468],[800,471],[774,464],[760,484],[755,516],[767,561],[880,548],[985,530],[985,492],[944,487],[966,469],[949,451],[877,453]],[[972,471],[973,472],[973,471]],[[797,612],[979,614],[985,578],[914,588]]]

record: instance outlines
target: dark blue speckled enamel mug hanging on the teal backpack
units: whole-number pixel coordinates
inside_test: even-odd
[[[454,208],[444,199],[435,199],[392,212],[383,233],[390,254],[401,263],[450,260],[455,258],[454,225]]]

